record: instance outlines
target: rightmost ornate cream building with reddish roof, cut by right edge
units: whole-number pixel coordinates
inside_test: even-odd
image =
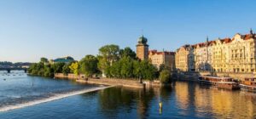
[[[226,70],[232,72],[255,72],[256,35],[237,33],[227,45],[229,54]]]

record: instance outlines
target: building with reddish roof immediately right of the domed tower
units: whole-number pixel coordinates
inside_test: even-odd
[[[175,52],[150,50],[148,52],[148,59],[157,68],[160,68],[160,65],[165,65],[171,70],[175,70]]]

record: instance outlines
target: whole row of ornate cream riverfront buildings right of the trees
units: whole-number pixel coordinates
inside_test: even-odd
[[[232,39],[218,38],[185,45],[177,49],[176,68],[180,71],[255,72],[255,43],[256,34],[251,30],[246,35],[237,33]]]

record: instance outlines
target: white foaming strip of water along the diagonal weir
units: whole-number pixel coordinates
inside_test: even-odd
[[[3,108],[0,108],[0,112],[15,110],[15,109],[19,109],[19,108],[24,108],[26,106],[31,106],[31,105],[38,105],[38,104],[46,103],[46,102],[53,101],[53,100],[56,100],[56,99],[63,99],[63,98],[67,98],[69,96],[94,92],[94,91],[97,91],[97,90],[101,90],[101,89],[104,89],[104,88],[110,88],[110,87],[112,87],[112,86],[109,86],[109,87],[102,86],[100,88],[82,89],[82,90],[79,90],[79,91],[67,92],[65,94],[54,94],[53,96],[51,96],[49,98],[46,98],[46,99],[38,99],[38,100],[35,100],[35,101],[29,101],[29,102],[26,102],[26,103],[23,103],[23,104],[17,104],[17,105],[8,105],[8,106],[5,106]]]

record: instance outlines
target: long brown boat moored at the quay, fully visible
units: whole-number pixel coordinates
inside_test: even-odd
[[[218,88],[239,89],[239,84],[231,77],[199,77],[198,82]]]

